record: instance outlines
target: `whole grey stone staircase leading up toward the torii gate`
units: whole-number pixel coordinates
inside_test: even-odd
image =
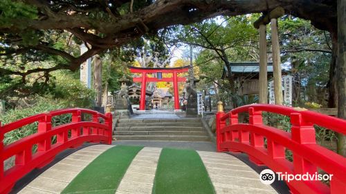
[[[199,118],[120,119],[113,135],[116,140],[210,141]]]

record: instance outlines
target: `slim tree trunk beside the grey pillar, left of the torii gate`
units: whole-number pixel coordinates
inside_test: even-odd
[[[96,91],[96,106],[102,106],[102,60],[100,55],[93,58],[93,85]]]

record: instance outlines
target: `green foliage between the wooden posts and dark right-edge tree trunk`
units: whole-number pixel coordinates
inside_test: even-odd
[[[316,29],[310,21],[289,15],[279,20],[279,26],[280,48],[284,51],[282,62],[294,64],[293,76],[295,76],[298,92],[308,96],[309,101],[326,107],[325,94],[331,62],[329,33]],[[305,49],[310,51],[304,51]],[[286,65],[286,68],[291,68],[290,66]],[[302,106],[304,105],[302,98],[297,96],[293,100],[296,105]]]

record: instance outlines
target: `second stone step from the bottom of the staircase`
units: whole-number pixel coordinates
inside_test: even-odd
[[[208,136],[203,131],[114,131],[115,135],[196,135]]]

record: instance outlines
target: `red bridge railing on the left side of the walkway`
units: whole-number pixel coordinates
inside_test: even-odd
[[[71,114],[71,123],[52,127],[52,118]],[[82,121],[82,114],[89,114],[92,121]],[[3,144],[4,134],[38,122],[35,134],[26,136],[9,145]],[[56,143],[53,144],[53,136]],[[8,193],[17,180],[34,168],[42,168],[67,148],[77,148],[84,142],[107,143],[112,140],[112,115],[100,114],[89,109],[60,109],[29,116],[0,126],[0,193]],[[37,152],[33,153],[33,146]],[[15,156],[15,165],[4,170],[4,161]]]

